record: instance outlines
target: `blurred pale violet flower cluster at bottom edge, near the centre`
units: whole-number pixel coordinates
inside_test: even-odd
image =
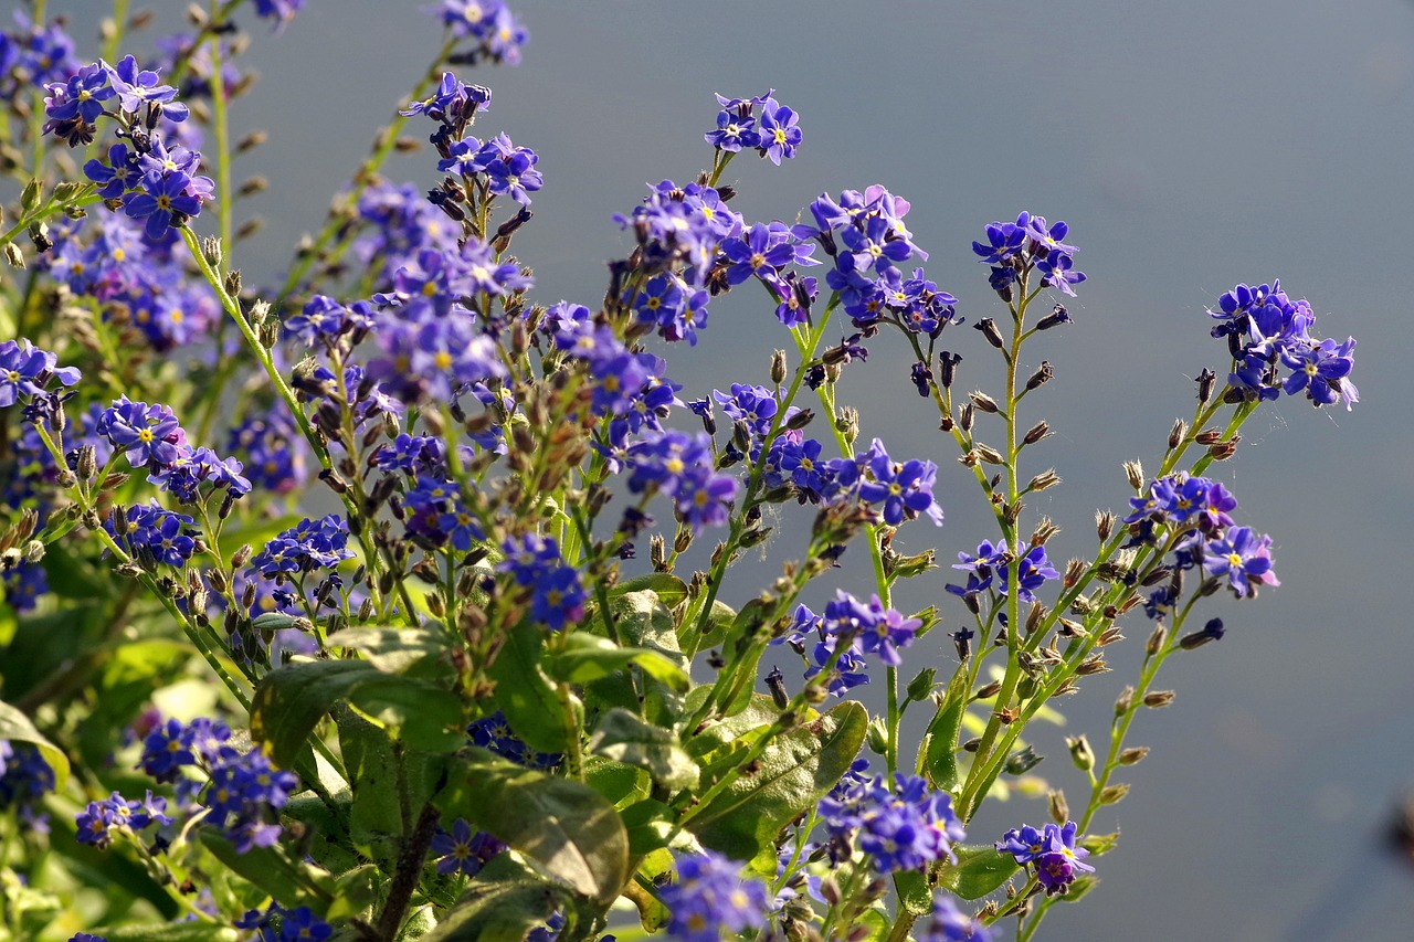
[[[659,892],[672,912],[667,935],[679,942],[717,942],[723,929],[741,934],[766,922],[766,885],[742,880],[741,864],[711,850],[677,861],[677,883]]]

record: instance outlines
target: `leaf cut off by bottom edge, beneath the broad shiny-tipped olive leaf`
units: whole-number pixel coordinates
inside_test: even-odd
[[[564,891],[501,854],[423,942],[520,942],[564,904]]]

